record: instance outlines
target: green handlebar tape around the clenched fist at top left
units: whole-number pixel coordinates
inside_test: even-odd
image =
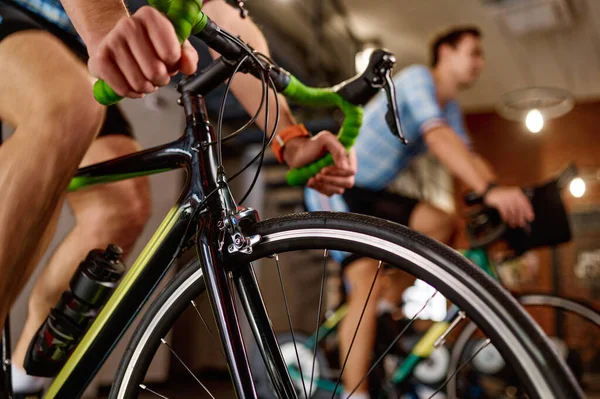
[[[166,14],[179,43],[186,41],[192,33],[201,32],[208,22],[208,17],[202,12],[202,0],[148,0],[148,3]],[[102,105],[116,104],[123,99],[101,79],[94,84],[94,97]]]

